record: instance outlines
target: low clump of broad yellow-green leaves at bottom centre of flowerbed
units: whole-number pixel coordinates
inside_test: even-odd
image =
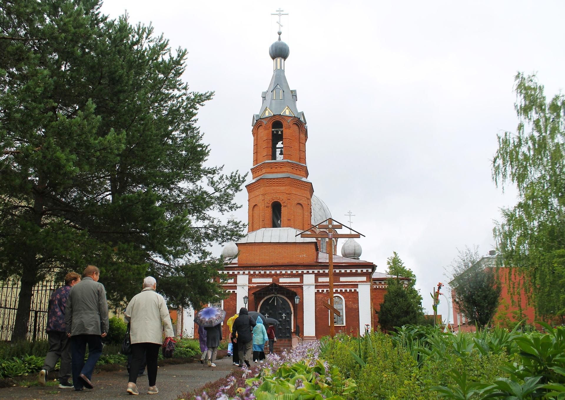
[[[313,367],[305,362],[282,365],[274,373],[263,369],[261,378],[247,379],[246,385],[260,384],[254,395],[258,400],[344,400],[356,398],[357,385],[342,379],[337,367],[326,368],[321,360]]]

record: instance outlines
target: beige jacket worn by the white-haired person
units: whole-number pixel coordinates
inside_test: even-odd
[[[151,287],[133,296],[124,316],[131,324],[129,337],[132,343],[161,344],[163,329],[165,337],[175,336],[165,299]]]

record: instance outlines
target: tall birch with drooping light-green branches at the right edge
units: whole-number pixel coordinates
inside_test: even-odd
[[[516,132],[498,136],[497,186],[513,184],[519,201],[502,210],[494,228],[504,265],[517,267],[533,290],[542,318],[565,313],[565,96],[547,101],[536,76],[515,78]]]

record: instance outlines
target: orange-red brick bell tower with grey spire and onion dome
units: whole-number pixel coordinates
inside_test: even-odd
[[[306,166],[308,132],[303,113],[296,108],[284,67],[290,50],[276,41],[269,49],[273,77],[263,104],[253,118],[253,180],[247,184],[249,231],[293,227],[305,230],[311,222],[314,194]]]

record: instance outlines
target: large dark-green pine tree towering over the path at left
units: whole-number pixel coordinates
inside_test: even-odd
[[[153,28],[108,20],[98,0],[0,7],[0,278],[21,283],[14,336],[32,287],[95,264],[118,306],[158,279],[169,302],[221,296],[210,244],[245,177],[208,166],[196,125],[212,93],[181,80],[186,50]]]

